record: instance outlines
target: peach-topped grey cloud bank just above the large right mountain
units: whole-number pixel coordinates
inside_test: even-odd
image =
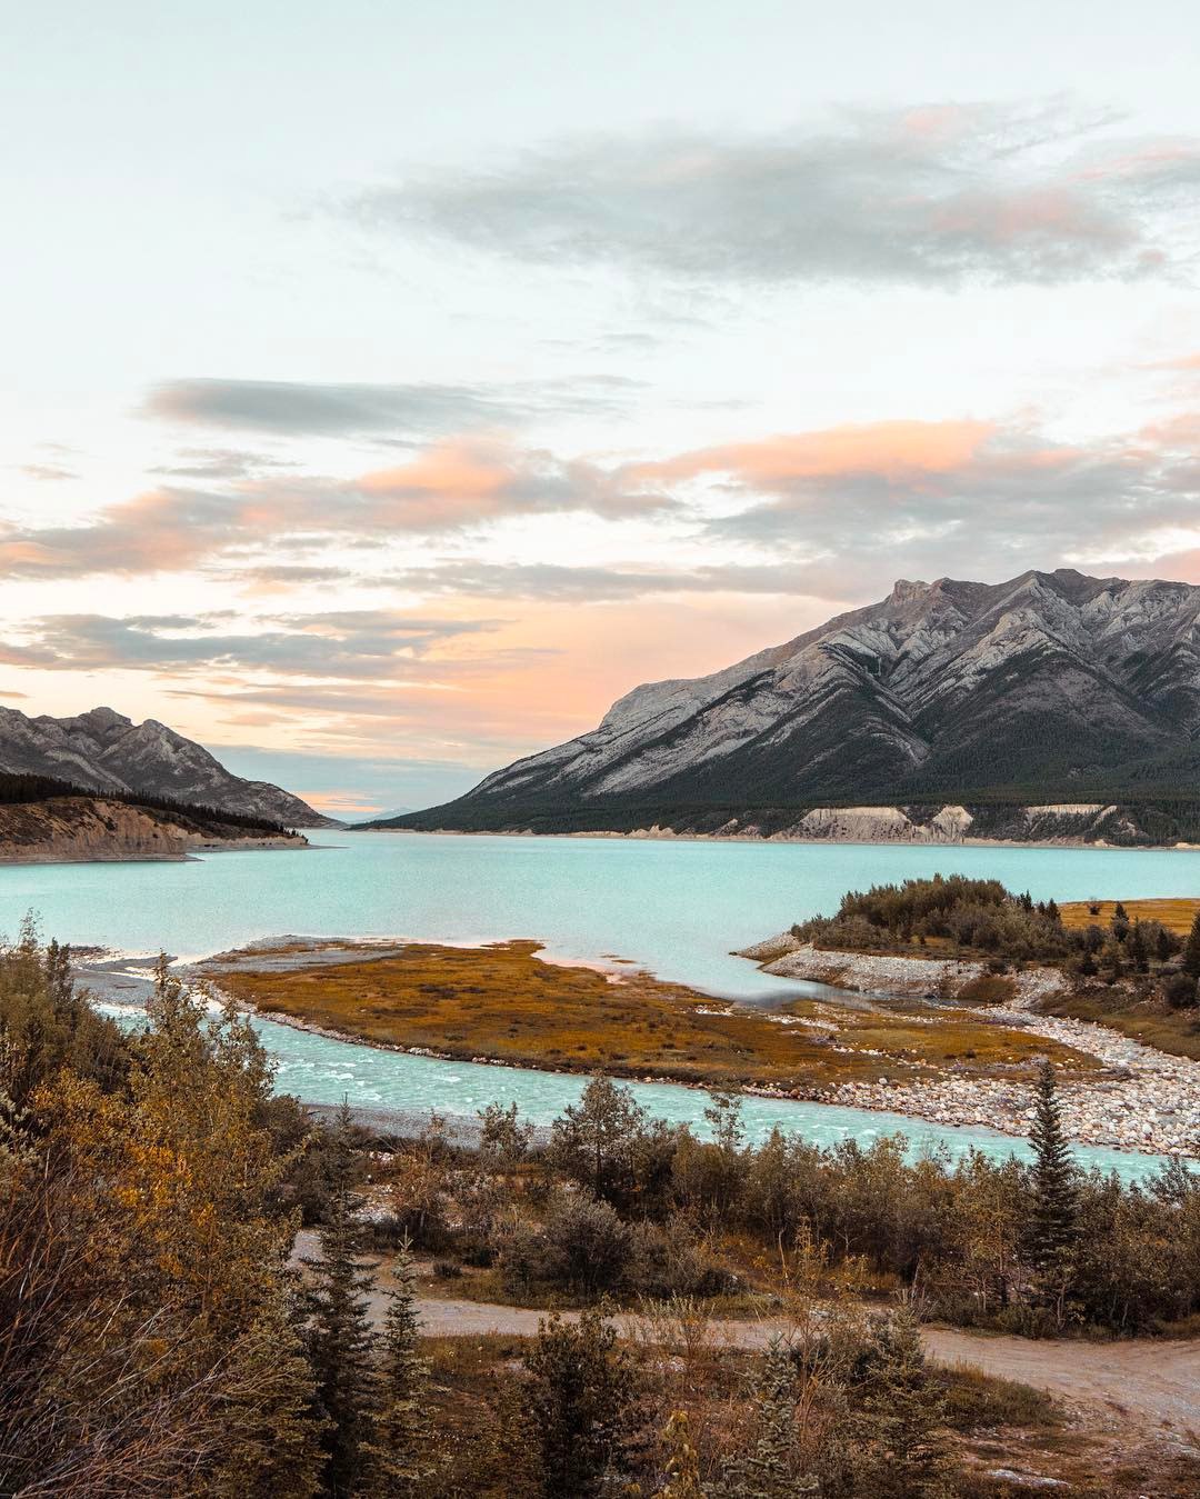
[[[1133,571],[1155,535],[1200,523],[1200,421],[1076,444],[1017,423],[875,423],[701,448],[640,474],[716,493],[727,513],[710,540],[791,559],[804,592],[846,597],[846,568],[852,592],[1062,561]]]

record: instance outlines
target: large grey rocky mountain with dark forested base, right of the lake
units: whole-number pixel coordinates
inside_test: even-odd
[[[1070,568],[902,580],[724,672],[638,687],[592,733],[390,824],[728,833],[818,806],[1197,802],[1200,832],[1197,618],[1200,588]]]

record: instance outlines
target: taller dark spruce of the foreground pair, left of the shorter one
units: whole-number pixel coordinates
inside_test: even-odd
[[[333,1187],[321,1228],[321,1258],[306,1261],[313,1273],[309,1358],[316,1376],[318,1412],[327,1423],[324,1493],[330,1499],[349,1499],[369,1466],[376,1337],[367,1301],[373,1277],[360,1259],[363,1199],[351,1186],[351,1114],[345,1105],[333,1132],[331,1157]]]

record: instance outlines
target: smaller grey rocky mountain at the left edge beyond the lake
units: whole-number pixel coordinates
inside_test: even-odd
[[[298,796],[244,781],[166,724],[135,724],[111,708],[78,718],[28,718],[0,708],[0,770],[46,775],[88,791],[136,791],[196,806],[264,817],[292,827],[331,826]]]

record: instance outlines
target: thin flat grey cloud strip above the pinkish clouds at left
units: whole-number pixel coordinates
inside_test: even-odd
[[[162,421],[282,436],[425,441],[524,426],[553,414],[611,414],[623,411],[638,388],[638,381],[619,375],[488,387],[172,379],[153,387],[142,411]]]

